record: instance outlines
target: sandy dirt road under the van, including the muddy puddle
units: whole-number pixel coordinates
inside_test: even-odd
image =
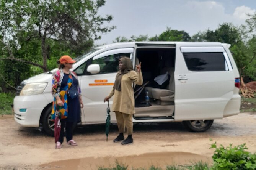
[[[104,125],[78,127],[74,139],[78,146],[64,144],[55,149],[54,138],[39,128],[20,126],[13,116],[0,117],[0,170],[90,170],[119,163],[129,168],[156,165],[191,164],[202,160],[211,164],[211,144],[228,146],[246,143],[248,151],[256,152],[256,113],[241,113],[215,120],[203,133],[188,132],[181,123],[134,124],[134,143],[122,146],[113,143],[118,135],[111,125],[106,142]],[[212,141],[210,141],[210,139]]]

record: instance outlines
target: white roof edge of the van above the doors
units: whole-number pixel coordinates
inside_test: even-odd
[[[171,42],[171,41],[149,41],[149,42],[118,42],[118,43],[111,43],[107,45],[101,45],[96,47],[97,49],[102,48],[108,48],[108,47],[119,47],[119,48],[125,48],[125,47],[134,47],[135,44],[142,45],[142,44],[148,44],[148,45],[176,45],[176,44],[183,44],[183,45],[225,45],[228,48],[230,47],[230,44],[226,43],[220,43],[220,42]]]

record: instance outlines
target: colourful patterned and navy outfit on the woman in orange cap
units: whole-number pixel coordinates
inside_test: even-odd
[[[67,90],[73,84],[77,87],[78,93],[81,95],[81,89],[78,84],[77,75],[70,71],[70,74],[65,74],[62,69],[58,70],[52,79],[52,95],[54,97],[52,103],[51,119],[55,119],[55,112],[58,109],[61,114],[61,119],[67,119],[68,122],[80,122],[80,103],[79,96],[71,99],[67,95]],[[63,106],[57,107],[56,96],[59,96],[63,102]],[[68,108],[69,107],[69,108]]]

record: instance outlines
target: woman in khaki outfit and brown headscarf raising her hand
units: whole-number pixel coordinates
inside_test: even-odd
[[[125,127],[128,137],[122,141],[122,144],[133,143],[132,139],[132,114],[135,113],[134,108],[134,90],[132,83],[142,85],[143,78],[141,73],[141,63],[136,65],[137,72],[133,70],[132,61],[127,57],[119,59],[119,71],[116,75],[116,80],[113,89],[104,99],[108,101],[114,95],[112,111],[116,113],[117,126],[119,135],[114,142],[124,140]]]

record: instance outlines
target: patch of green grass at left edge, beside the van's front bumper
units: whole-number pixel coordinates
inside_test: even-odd
[[[11,104],[14,97],[15,93],[0,93],[0,115],[13,114]]]

